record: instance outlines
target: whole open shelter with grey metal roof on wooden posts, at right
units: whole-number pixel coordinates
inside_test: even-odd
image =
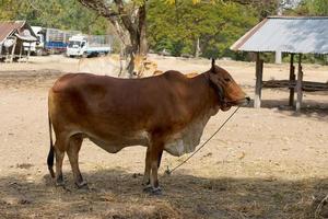
[[[301,110],[303,91],[328,90],[327,83],[303,81],[302,70],[302,54],[328,54],[328,16],[269,16],[242,36],[231,49],[256,53],[254,107],[260,107],[262,87],[289,88],[291,106],[294,105],[296,91],[296,111]],[[263,60],[260,53],[268,51],[290,54],[289,80],[262,81]],[[297,79],[294,67],[296,54]]]

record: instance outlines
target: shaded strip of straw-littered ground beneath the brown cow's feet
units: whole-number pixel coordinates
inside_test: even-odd
[[[0,178],[1,218],[314,218],[328,178],[204,178],[180,172],[160,181],[164,193],[142,192],[141,174],[99,170],[84,174],[90,189],[55,187],[49,175]],[[328,217],[328,206],[318,211]]]

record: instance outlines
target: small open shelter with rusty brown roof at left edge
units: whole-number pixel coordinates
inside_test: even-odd
[[[28,60],[33,42],[37,42],[37,36],[26,21],[0,22],[0,60],[12,62],[24,56]],[[24,47],[28,48],[26,55]]]

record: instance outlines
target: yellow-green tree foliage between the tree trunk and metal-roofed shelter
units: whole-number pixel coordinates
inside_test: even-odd
[[[234,56],[229,47],[258,22],[257,16],[255,10],[236,3],[151,0],[148,39],[152,49],[175,56],[195,54],[198,38],[204,57]]]

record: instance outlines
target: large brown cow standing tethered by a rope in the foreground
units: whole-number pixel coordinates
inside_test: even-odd
[[[83,138],[110,153],[145,146],[143,183],[156,194],[163,150],[177,157],[194,151],[211,116],[220,108],[227,111],[247,101],[214,60],[209,71],[195,78],[178,71],[144,79],[66,74],[49,91],[49,129],[51,134],[52,125],[56,135],[55,145],[50,142],[49,171],[55,177],[55,152],[56,182],[62,185],[61,166],[67,152],[75,184],[81,187],[86,185],[78,163]]]

